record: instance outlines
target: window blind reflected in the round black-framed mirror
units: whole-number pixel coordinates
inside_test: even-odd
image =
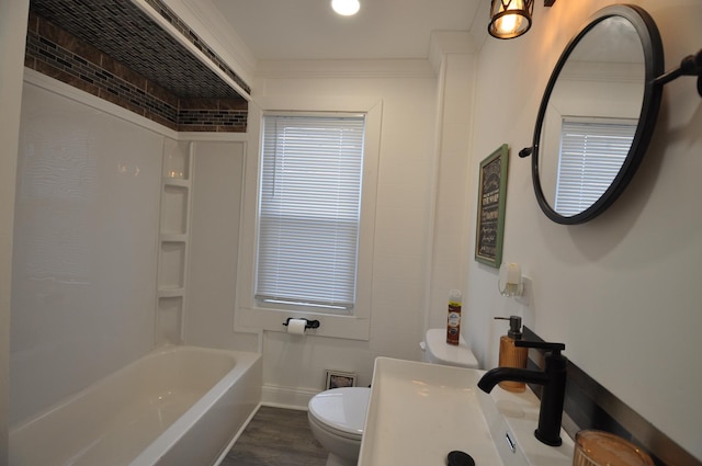
[[[626,159],[635,132],[636,124],[629,121],[563,121],[554,206],[558,214],[579,214],[604,194]]]

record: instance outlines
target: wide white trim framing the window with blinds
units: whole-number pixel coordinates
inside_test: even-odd
[[[361,198],[361,227],[359,237],[356,302],[352,316],[281,310],[263,307],[253,297],[256,284],[256,231],[258,221],[258,195],[261,170],[262,117],[265,112],[336,112],[365,113],[365,140],[363,159],[363,187]],[[237,276],[235,330],[267,330],[285,332],[283,322],[287,318],[319,320],[317,329],[308,334],[370,339],[371,296],[373,277],[373,242],[375,232],[375,203],[381,146],[381,121],[383,103],[377,99],[319,99],[319,98],[269,98],[249,103],[247,162],[245,168],[245,194],[242,209],[242,231],[239,241],[239,264]]]

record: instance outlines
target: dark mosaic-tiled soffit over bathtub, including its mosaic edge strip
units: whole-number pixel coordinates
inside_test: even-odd
[[[246,82],[160,0],[150,0],[145,8],[168,21],[180,38],[200,49],[210,66],[131,0],[31,0],[30,8],[177,95],[238,96],[237,90],[211,66],[250,94]]]

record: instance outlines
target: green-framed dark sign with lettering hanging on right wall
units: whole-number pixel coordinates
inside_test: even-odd
[[[480,162],[475,260],[499,269],[502,263],[509,146],[501,145]]]

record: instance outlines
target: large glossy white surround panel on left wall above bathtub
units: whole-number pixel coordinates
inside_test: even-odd
[[[160,134],[25,83],[11,425],[154,348],[162,145]]]

